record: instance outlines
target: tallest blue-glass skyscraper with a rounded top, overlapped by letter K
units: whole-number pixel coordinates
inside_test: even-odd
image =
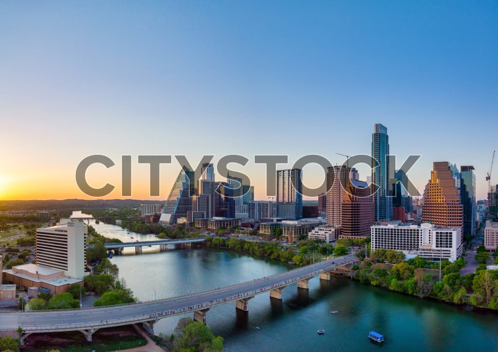
[[[388,220],[390,212],[389,197],[389,136],[387,128],[375,124],[372,134],[372,158],[378,166],[372,165],[372,193],[375,221]],[[375,191],[375,187],[377,187]]]

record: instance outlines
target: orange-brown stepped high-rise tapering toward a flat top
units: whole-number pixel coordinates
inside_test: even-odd
[[[463,206],[448,162],[435,162],[422,205],[422,222],[436,227],[461,227]]]

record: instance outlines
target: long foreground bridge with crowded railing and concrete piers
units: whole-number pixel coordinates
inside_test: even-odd
[[[154,324],[162,318],[193,313],[195,321],[206,323],[206,313],[213,306],[235,301],[237,309],[249,311],[249,300],[263,292],[281,300],[282,289],[288,285],[297,283],[298,288],[308,289],[308,281],[314,276],[330,280],[332,272],[354,259],[354,254],[348,254],[269,277],[174,298],[80,310],[3,313],[0,331],[22,328],[21,343],[30,334],[56,331],[80,331],[87,341],[92,341],[92,334],[99,329],[138,323],[153,334]]]

